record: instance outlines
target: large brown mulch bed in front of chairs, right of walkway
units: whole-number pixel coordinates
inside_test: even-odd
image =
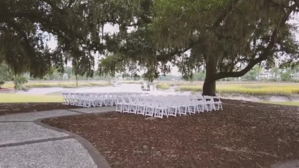
[[[112,112],[43,122],[86,138],[113,168],[260,168],[299,159],[299,107],[224,101],[223,111],[168,119]]]

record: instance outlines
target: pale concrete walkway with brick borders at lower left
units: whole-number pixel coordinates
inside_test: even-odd
[[[0,116],[0,168],[109,168],[84,138],[40,122],[43,118],[115,111],[115,107]]]

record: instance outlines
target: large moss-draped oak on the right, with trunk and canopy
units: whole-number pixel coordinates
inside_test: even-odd
[[[168,73],[172,62],[188,79],[205,66],[203,94],[214,95],[219,79],[243,76],[256,64],[299,58],[290,23],[299,0],[155,0],[151,11],[151,22],[118,46],[111,71],[133,65],[145,68],[150,79],[157,69]]]

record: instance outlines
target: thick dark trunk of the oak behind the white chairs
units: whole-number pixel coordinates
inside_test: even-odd
[[[206,63],[206,79],[203,86],[203,95],[216,95],[216,80],[217,73],[217,59],[209,58]]]

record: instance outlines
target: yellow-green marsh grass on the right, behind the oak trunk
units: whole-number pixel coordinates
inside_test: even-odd
[[[202,85],[183,85],[179,90],[200,92]],[[299,94],[299,84],[216,84],[216,91],[224,94],[291,96]]]

